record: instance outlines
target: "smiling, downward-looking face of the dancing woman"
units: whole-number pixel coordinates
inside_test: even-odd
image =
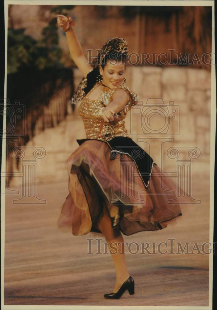
[[[122,83],[125,74],[125,64],[121,61],[109,60],[104,69],[100,66],[99,72],[103,77],[102,83],[113,89]]]

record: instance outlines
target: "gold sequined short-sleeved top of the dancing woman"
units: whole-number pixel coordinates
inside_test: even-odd
[[[101,82],[96,82],[91,91],[93,91],[93,89],[95,89],[100,84]],[[120,112],[114,114],[118,116],[119,122],[115,125],[104,122],[101,135],[98,137],[100,129],[99,127],[102,121],[102,117],[100,116],[102,110],[113,100],[112,95],[119,88],[127,91],[128,102]],[[84,122],[86,138],[99,139],[104,141],[109,141],[117,136],[130,138],[127,133],[127,129],[125,128],[124,119],[127,115],[127,111],[132,108],[132,105],[137,104],[137,102],[138,96],[123,84],[118,85],[114,89],[104,87],[104,90],[101,92],[100,98],[98,100],[90,100],[87,94],[81,100],[81,104],[78,108],[78,114],[81,116]]]

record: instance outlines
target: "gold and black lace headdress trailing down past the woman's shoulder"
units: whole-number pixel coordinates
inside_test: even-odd
[[[99,65],[103,63],[105,56],[111,51],[114,53],[123,54],[125,59],[128,59],[127,41],[119,37],[110,38],[99,50],[97,57],[91,62],[91,65],[94,68],[90,70],[86,78],[82,78],[72,99],[70,100],[73,111],[75,104],[78,103],[91,90],[97,81],[99,81]]]

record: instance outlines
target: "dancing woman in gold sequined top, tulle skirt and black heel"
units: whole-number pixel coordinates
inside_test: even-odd
[[[118,299],[126,290],[134,294],[134,280],[121,254],[121,232],[129,236],[159,230],[182,215],[179,204],[168,204],[176,184],[125,128],[127,111],[138,102],[138,96],[125,86],[127,42],[118,37],[108,39],[88,64],[72,18],[58,15],[57,22],[66,32],[70,54],[83,75],[71,103],[80,103],[78,113],[86,132],[67,159],[69,194],[58,227],[73,235],[104,235],[116,270],[113,292],[104,297]],[[166,192],[161,185],[163,176]]]

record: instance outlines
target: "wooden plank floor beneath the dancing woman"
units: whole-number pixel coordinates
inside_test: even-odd
[[[205,184],[208,184],[205,183]],[[68,194],[66,183],[38,184],[37,197],[46,204],[16,204],[21,194],[6,191],[5,210],[5,305],[97,306],[208,306],[209,255],[131,254],[126,260],[135,281],[135,294],[104,299],[115,284],[109,254],[87,254],[90,233],[73,236],[58,230],[56,220]],[[201,188],[200,188],[201,186]],[[20,191],[20,188],[13,190]],[[209,241],[209,186],[198,184],[192,192],[201,204],[182,206],[175,226],[155,232],[123,236],[132,242]],[[167,248],[168,249],[168,248]],[[132,251],[136,248],[132,246]],[[162,251],[164,250],[162,246]],[[174,251],[176,247],[174,246]],[[196,253],[196,251],[195,251]]]

